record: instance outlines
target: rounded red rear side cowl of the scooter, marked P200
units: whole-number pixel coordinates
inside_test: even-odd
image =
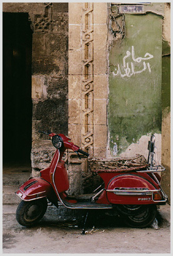
[[[134,173],[134,174],[117,174],[109,182],[107,189],[159,189],[159,187],[154,186],[146,178]],[[107,191],[107,200],[112,204],[122,204],[122,205],[149,205],[153,204],[152,195],[116,195],[114,192]]]

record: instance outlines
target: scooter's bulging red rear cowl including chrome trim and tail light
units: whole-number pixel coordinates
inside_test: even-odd
[[[147,174],[142,174],[146,176]],[[149,205],[166,203],[161,187],[139,174],[119,174],[109,182],[106,193],[112,204]]]

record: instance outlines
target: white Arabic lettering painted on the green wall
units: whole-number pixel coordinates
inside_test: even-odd
[[[133,61],[130,61],[131,63],[127,62],[127,58],[131,56]],[[134,46],[132,46],[132,52],[131,51],[126,51],[126,56],[124,56],[122,62],[122,68],[120,68],[119,64],[117,65],[117,68],[115,68],[115,72],[112,72],[113,75],[120,75],[121,77],[131,77],[132,75],[136,75],[139,73],[142,73],[148,69],[149,73],[151,73],[151,67],[149,62],[146,63],[146,60],[151,60],[151,58],[154,58],[153,55],[150,53],[146,53],[144,55],[144,58],[142,57],[137,57],[135,58],[135,53],[134,53]],[[143,62],[142,62],[143,61]],[[135,71],[135,65],[137,63],[142,63],[142,70],[137,70]]]

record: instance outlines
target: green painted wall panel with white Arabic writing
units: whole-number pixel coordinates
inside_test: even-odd
[[[125,14],[125,23],[126,36],[109,55],[108,127],[117,155],[142,135],[161,133],[162,118],[162,16]]]

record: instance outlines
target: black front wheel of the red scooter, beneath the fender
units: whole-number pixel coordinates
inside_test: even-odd
[[[16,220],[25,227],[32,227],[41,220],[47,210],[47,199],[21,201],[16,210]]]

